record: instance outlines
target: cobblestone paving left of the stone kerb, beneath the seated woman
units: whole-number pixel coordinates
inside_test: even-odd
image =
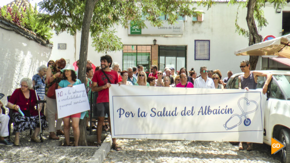
[[[49,140],[48,131],[44,131],[44,142],[35,143],[30,140],[29,130],[20,133],[20,146],[0,146],[0,163],[66,163],[88,162],[98,150],[97,147],[83,146],[59,146],[60,140]],[[73,135],[72,129],[70,135]],[[11,142],[14,141],[11,136]]]

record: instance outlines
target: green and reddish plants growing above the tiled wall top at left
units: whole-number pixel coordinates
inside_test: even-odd
[[[40,21],[41,14],[36,10],[37,4],[35,3],[34,9],[31,7],[23,9],[19,12],[17,6],[1,7],[0,15],[24,28],[35,32],[41,38],[49,40],[52,37],[52,28],[50,22]]]

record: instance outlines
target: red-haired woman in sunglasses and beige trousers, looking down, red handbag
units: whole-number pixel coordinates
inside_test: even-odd
[[[62,119],[57,119],[56,129],[57,135],[55,135],[55,115],[57,114],[57,105],[55,97],[48,97],[48,89],[53,84],[58,84],[63,74],[61,73],[61,69],[66,66],[66,60],[61,58],[55,61],[55,65],[48,67],[46,71],[46,87],[45,87],[45,99],[46,99],[46,117],[48,121],[48,131],[49,131],[49,139],[59,140],[57,135],[64,135],[64,132],[61,131],[61,122]]]

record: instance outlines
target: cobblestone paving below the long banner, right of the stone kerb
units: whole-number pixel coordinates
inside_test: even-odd
[[[122,151],[111,150],[105,163],[113,162],[280,162],[271,146],[254,144],[253,151],[239,151],[229,142],[117,139]]]

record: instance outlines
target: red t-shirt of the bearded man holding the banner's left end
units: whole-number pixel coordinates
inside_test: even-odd
[[[118,74],[116,71],[111,70],[110,72],[108,71],[104,71],[104,72],[110,79],[111,84],[118,83]],[[98,84],[98,87],[104,86],[105,84],[109,83],[108,79],[106,78],[102,70],[97,70],[94,73],[92,81],[96,82]],[[102,89],[98,92],[97,103],[101,103],[101,102],[109,102],[109,89],[108,88]]]

